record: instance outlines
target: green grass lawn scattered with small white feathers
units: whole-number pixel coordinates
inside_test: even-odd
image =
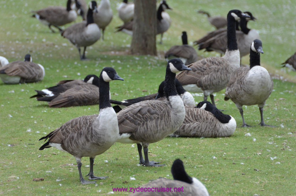
[[[0,2],[0,55],[14,61],[30,53],[34,62],[46,69],[45,78],[39,83],[4,85],[0,82],[0,195],[106,195],[112,187],[139,187],[160,176],[172,179],[170,167],[176,158],[184,161],[189,175],[200,179],[211,195],[296,195],[296,121],[293,115],[296,113],[296,85],[282,80],[274,80],[274,92],[264,107],[266,124],[277,128],[258,126],[258,107],[243,107],[245,121],[253,127],[237,128],[231,137],[167,137],[150,144],[150,160],[162,159],[167,165],[162,168],[137,166],[136,145],[115,143],[95,159],[94,173],[109,178],[98,181],[97,186],[81,185],[72,155],[55,148],[38,150],[44,143],[38,142],[39,138],[72,118],[97,113],[99,107],[49,108],[44,102],[29,99],[35,93],[34,89],[53,86],[63,79],[82,79],[91,73],[99,75],[103,67],[112,66],[125,79],[110,83],[112,99],[155,93],[164,79],[164,51],[181,44],[181,31],[186,30],[192,42],[214,30],[205,16],[196,13],[198,9],[205,9],[212,15],[226,15],[230,9],[251,11],[258,20],[249,25],[260,31],[263,42],[262,65],[271,73],[296,82],[295,72],[280,67],[280,63],[295,52],[296,6],[290,1],[231,1],[231,5],[228,1],[168,1],[173,8],[168,11],[173,22],[165,33],[164,44],[157,44],[157,57],[129,55],[131,37],[113,33],[114,27],[121,24],[115,9],[118,2],[112,1],[115,15],[107,27],[105,41],[89,47],[87,57],[91,60],[84,62],[79,60],[77,49],[66,39],[58,33],[50,33],[46,26],[29,17],[31,10],[48,5],[65,6],[64,2]],[[248,64],[248,60],[243,57],[243,63]],[[242,125],[239,111],[231,101],[223,100],[223,93],[216,93],[217,106],[232,115],[238,126]],[[196,102],[201,100],[202,97],[195,96]],[[245,136],[247,133],[251,136]],[[271,160],[270,157],[276,158]],[[82,164],[82,173],[86,175],[89,159],[83,158]],[[136,180],[130,180],[131,176]],[[32,181],[37,177],[43,177],[44,181]]]

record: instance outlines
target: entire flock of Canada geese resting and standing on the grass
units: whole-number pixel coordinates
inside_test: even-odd
[[[165,9],[171,8],[162,1],[157,10],[157,34],[163,34],[171,23]],[[124,24],[117,31],[131,30],[133,12],[134,4],[123,0],[118,6],[118,14]],[[242,127],[249,126],[244,121],[243,105],[258,105],[260,125],[271,126],[264,123],[263,107],[273,90],[273,81],[268,71],[260,66],[260,53],[263,54],[263,48],[259,35],[255,30],[247,28],[247,22],[256,18],[250,12],[234,9],[229,11],[224,24],[223,18],[210,17],[202,10],[199,13],[207,14],[208,20],[217,30],[194,43],[199,45],[199,49],[221,52],[223,57],[199,60],[196,50],[188,45],[184,31],[181,36],[183,45],[173,46],[165,53],[165,58],[178,58],[168,60],[165,80],[160,83],[155,94],[124,101],[110,100],[110,81],[123,81],[115,69],[110,67],[103,68],[99,77],[87,75],[82,81],[63,80],[56,86],[35,90],[37,94],[31,98],[46,101],[50,107],[99,104],[99,114],[73,118],[40,138],[39,140],[45,139],[46,142],[39,150],[56,147],[73,155],[81,184],[95,183],[83,178],[81,158],[90,159],[90,171],[87,174],[89,180],[105,179],[107,176],[94,176],[94,158],[108,150],[115,142],[136,143],[139,164],[143,166],[164,166],[159,164],[160,162],[149,161],[149,144],[166,136],[225,137],[234,133],[237,127],[235,119],[218,110],[214,102],[213,93],[225,88],[224,99],[231,99],[239,109]],[[77,14],[86,21],[75,23],[65,30],[59,27],[73,22]],[[84,60],[86,47],[100,39],[101,30],[102,39],[104,38],[104,30],[112,20],[113,13],[109,0],[101,0],[99,6],[96,1],[91,1],[88,8],[83,0],[68,0],[66,9],[47,7],[34,11],[33,17],[53,32],[51,26],[59,29],[61,35],[78,48],[80,58]],[[221,21],[221,24],[215,23],[215,19]],[[223,28],[225,25],[227,28]],[[81,47],[84,47],[82,55]],[[250,54],[250,67],[240,67],[240,59],[246,54]],[[283,64],[295,68],[296,53]],[[0,78],[6,84],[38,82],[45,75],[44,67],[33,63],[30,54],[25,55],[24,61],[10,63],[6,58],[0,57],[0,67]],[[204,100],[195,105],[189,92],[202,92]],[[207,101],[208,96],[212,103]],[[115,106],[112,107],[111,103]],[[199,180],[186,173],[181,160],[174,161],[171,172],[174,180],[158,179],[143,187],[182,186],[185,190],[182,194],[209,195]]]

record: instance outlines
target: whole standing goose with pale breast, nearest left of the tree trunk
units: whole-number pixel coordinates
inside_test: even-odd
[[[87,22],[75,23],[62,31],[61,35],[67,38],[73,45],[78,48],[80,60],[87,60],[85,57],[85,50],[87,46],[96,43],[101,37],[101,31],[94,23],[93,11],[96,11],[96,1],[89,3],[89,10],[87,12]],[[83,55],[81,56],[80,47],[84,47]]]

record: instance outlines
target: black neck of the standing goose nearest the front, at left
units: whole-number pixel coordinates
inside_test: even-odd
[[[109,82],[104,81],[101,75],[99,78],[99,110],[111,107],[109,91]]]

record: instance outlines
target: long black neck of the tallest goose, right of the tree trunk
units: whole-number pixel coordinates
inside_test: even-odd
[[[227,49],[237,50],[237,37],[236,37],[236,20],[229,14],[227,16]]]

